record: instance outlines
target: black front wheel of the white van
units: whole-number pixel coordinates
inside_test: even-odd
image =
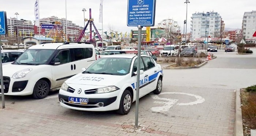
[[[39,80],[37,83],[35,83],[34,89],[33,89],[33,97],[36,99],[42,99],[48,96],[48,93],[50,91],[49,83],[45,80]]]

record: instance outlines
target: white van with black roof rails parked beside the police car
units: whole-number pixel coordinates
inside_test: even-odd
[[[3,66],[4,94],[45,98],[65,80],[96,59],[92,44],[42,43],[31,46],[16,61]]]

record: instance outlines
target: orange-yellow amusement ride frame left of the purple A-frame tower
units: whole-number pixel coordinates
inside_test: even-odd
[[[63,36],[67,39],[65,33],[62,30],[60,22],[54,22],[53,28],[50,30],[49,34],[46,37],[53,38],[53,42],[64,42]]]

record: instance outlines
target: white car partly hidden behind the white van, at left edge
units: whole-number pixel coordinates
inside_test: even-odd
[[[17,59],[24,50],[1,50],[2,53],[2,63],[3,65],[12,63]]]

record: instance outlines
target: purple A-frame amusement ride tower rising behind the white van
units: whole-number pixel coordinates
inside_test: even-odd
[[[81,39],[83,38],[84,32],[85,32],[88,24],[90,25],[90,40],[88,42],[90,42],[90,43],[94,43],[95,42],[94,39],[92,39],[92,35],[91,35],[91,32],[92,32],[91,31],[91,25],[93,25],[93,27],[94,27],[94,29],[96,31],[96,34],[98,35],[98,38],[100,40],[102,40],[101,35],[99,34],[99,31],[97,30],[97,28],[95,27],[95,25],[93,23],[93,18],[91,18],[91,9],[89,9],[89,13],[90,13],[90,18],[89,18],[89,20],[84,20],[84,21],[88,21],[88,22],[87,22],[86,26],[83,28],[83,31],[81,32],[79,38],[76,40],[77,42],[83,42],[83,41],[81,41]]]

